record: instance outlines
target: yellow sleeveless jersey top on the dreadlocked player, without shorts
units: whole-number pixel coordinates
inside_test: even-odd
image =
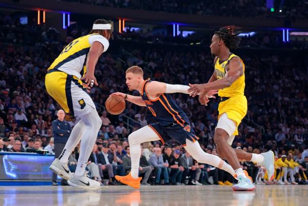
[[[227,73],[226,66],[233,57],[239,57],[239,56],[235,54],[231,54],[229,58],[224,60],[222,63],[220,63],[219,58],[216,60],[215,73],[216,73],[217,79],[222,79],[225,77]],[[240,61],[243,65],[243,70],[245,72],[244,62],[241,58],[240,58]],[[235,97],[239,95],[244,95],[244,89],[245,89],[245,73],[242,76],[240,76],[236,81],[234,81],[234,83],[231,86],[220,89],[218,91],[218,95],[220,97]]]

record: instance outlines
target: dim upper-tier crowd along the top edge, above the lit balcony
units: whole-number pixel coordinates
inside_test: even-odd
[[[183,13],[204,16],[238,16],[238,17],[289,17],[292,19],[308,18],[306,10],[308,2],[301,1],[276,1],[276,12],[266,8],[265,0],[241,0],[241,1],[141,1],[141,0],[60,0],[65,2],[91,4],[107,7],[142,9],[149,11]],[[281,10],[281,12],[280,12]]]

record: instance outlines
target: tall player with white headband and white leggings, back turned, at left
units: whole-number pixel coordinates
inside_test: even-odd
[[[67,179],[70,186],[86,190],[100,187],[98,181],[87,177],[85,168],[102,125],[87,89],[94,84],[98,86],[94,76],[95,65],[102,53],[108,49],[111,35],[111,25],[107,20],[95,20],[90,34],[74,39],[66,46],[48,68],[45,77],[48,94],[65,112],[71,112],[81,118],[72,129],[63,151],[55,151],[55,157],[59,158],[56,158],[49,168]],[[82,80],[85,83],[82,83]],[[68,157],[80,140],[80,156],[73,174],[67,166]]]

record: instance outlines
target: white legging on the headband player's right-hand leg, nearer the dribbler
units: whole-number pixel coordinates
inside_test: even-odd
[[[79,177],[83,176],[85,173],[86,167],[84,164],[88,162],[88,159],[93,150],[94,143],[97,140],[99,130],[102,126],[102,119],[94,108],[92,108],[90,113],[83,115],[80,118],[85,124],[85,129],[84,135],[81,139],[80,155],[75,171],[75,175]]]

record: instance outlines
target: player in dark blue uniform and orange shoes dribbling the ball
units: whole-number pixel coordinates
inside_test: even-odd
[[[131,156],[131,172],[126,176],[115,176],[115,179],[133,188],[140,187],[141,178],[138,177],[139,160],[141,156],[140,144],[147,141],[161,140],[162,143],[175,139],[185,150],[200,163],[211,164],[235,175],[229,164],[220,157],[205,153],[199,143],[199,137],[190,127],[187,115],[176,104],[169,93],[188,93],[189,86],[169,85],[158,81],[144,80],[140,67],[133,66],[126,70],[126,84],[130,91],[138,90],[141,96],[132,96],[120,92],[111,94],[121,95],[127,101],[147,107],[157,122],[151,123],[128,136]],[[215,94],[208,93],[208,95]]]

